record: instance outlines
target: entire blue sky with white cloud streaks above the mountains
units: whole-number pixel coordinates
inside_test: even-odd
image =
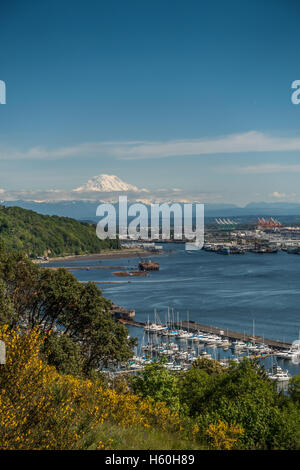
[[[0,188],[300,201],[297,1],[1,5]],[[4,193],[5,194],[5,193]]]

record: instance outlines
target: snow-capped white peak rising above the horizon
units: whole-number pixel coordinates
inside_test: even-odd
[[[113,192],[113,191],[141,191],[137,186],[125,183],[116,175],[98,175],[94,176],[83,186],[74,189],[77,192],[88,192],[88,191],[101,191],[101,192]]]

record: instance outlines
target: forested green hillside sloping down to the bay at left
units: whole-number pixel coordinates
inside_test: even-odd
[[[118,240],[99,240],[92,225],[68,217],[41,215],[20,207],[0,206],[0,239],[7,249],[20,249],[31,258],[119,248]]]

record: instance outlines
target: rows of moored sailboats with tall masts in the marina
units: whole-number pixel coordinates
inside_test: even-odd
[[[174,312],[168,310],[166,324],[162,324],[157,312],[154,322],[137,322],[120,319],[126,325],[144,330],[134,357],[115,373],[131,373],[143,370],[153,360],[165,359],[165,367],[174,372],[188,370],[197,359],[214,359],[224,368],[244,358],[257,360],[267,370],[267,376],[278,386],[288,384],[291,374],[278,361],[299,363],[300,341],[293,344],[269,340],[259,336],[244,336],[235,331],[224,331],[195,322],[175,322]],[[171,319],[172,318],[172,319]],[[253,325],[254,329],[254,325]],[[266,360],[271,360],[271,363]],[[267,367],[266,367],[267,366]]]

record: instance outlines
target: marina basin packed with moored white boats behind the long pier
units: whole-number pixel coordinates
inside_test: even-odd
[[[127,364],[111,365],[106,370],[111,376],[124,373],[136,374],[154,360],[163,359],[164,366],[172,372],[188,370],[198,359],[215,360],[223,368],[232,363],[239,363],[244,358],[256,359],[266,370],[267,377],[277,383],[280,390],[287,391],[292,375],[279,362],[287,365],[287,361],[299,358],[299,345],[287,350],[270,348],[265,343],[230,341],[225,336],[203,331],[174,330],[155,323],[126,322],[144,329],[144,334],[133,358]],[[280,352],[285,354],[284,361]],[[269,362],[267,362],[269,361]],[[270,362],[271,361],[271,362]]]

